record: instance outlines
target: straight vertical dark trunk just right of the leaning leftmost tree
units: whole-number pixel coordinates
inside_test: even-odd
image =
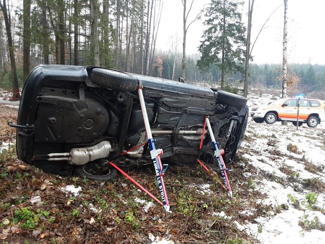
[[[26,80],[31,67],[31,0],[24,0],[23,2],[23,75]]]

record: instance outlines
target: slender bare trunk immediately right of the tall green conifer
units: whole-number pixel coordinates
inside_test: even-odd
[[[248,1],[248,19],[247,19],[247,38],[246,38],[246,56],[245,56],[245,76],[244,76],[244,97],[247,98],[248,95],[248,67],[250,58],[250,37],[252,29],[252,16],[253,16],[254,0],[250,4]]]

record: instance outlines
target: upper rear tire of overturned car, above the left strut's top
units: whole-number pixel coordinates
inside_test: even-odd
[[[93,68],[91,72],[91,81],[102,87],[112,90],[132,92],[137,89],[138,79],[134,76],[104,68]]]

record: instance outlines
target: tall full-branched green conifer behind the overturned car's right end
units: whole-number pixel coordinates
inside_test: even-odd
[[[221,70],[221,89],[224,87],[225,75],[236,71],[243,72],[245,27],[241,22],[238,8],[242,3],[236,0],[211,0],[206,9],[208,27],[204,33],[204,41],[199,46],[201,59],[197,66],[208,71],[210,65],[217,65]]]

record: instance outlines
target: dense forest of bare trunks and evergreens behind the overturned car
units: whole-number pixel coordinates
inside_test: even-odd
[[[98,65],[176,81],[179,77],[184,77],[182,73],[183,33],[179,35],[165,33],[167,48],[162,50],[156,47],[157,34],[165,31],[159,28],[161,16],[166,14],[162,12],[163,0],[18,0],[14,2],[16,4],[11,0],[1,0],[0,88],[12,87],[10,51],[14,52],[20,87],[29,71],[39,64]],[[192,21],[203,22],[211,17],[209,11],[191,9],[191,2],[188,1],[184,13],[192,11],[197,16],[195,19],[187,19],[187,27],[190,27]],[[213,3],[209,6],[222,4],[225,0],[211,2]],[[239,1],[227,0],[227,2]],[[184,6],[184,0],[182,3]],[[7,9],[11,28],[12,48],[9,48],[8,44],[4,7]],[[179,14],[182,15],[183,10]],[[245,30],[244,22],[247,13],[240,17]],[[183,25],[183,23],[179,24]],[[26,47],[24,40],[28,42],[29,50],[24,49]],[[234,44],[234,41],[232,45],[240,46]],[[203,53],[202,49],[199,50],[201,52],[186,54],[185,81],[219,84],[222,72],[218,60],[214,64],[204,64],[205,67],[197,65]],[[244,52],[242,54],[244,57]],[[234,61],[239,68],[227,72],[226,89],[243,86],[244,58]],[[241,70],[240,67],[243,69]],[[281,72],[282,64],[251,63],[248,86],[251,89],[281,89]],[[294,92],[325,91],[325,65],[290,64],[288,76],[288,86],[293,84]],[[318,97],[325,99],[324,92],[321,94],[323,96],[318,95]]]

